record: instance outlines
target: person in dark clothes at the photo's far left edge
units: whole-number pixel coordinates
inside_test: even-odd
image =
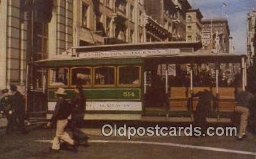
[[[3,97],[0,101],[0,111],[6,116],[7,119],[6,134],[13,132],[16,125],[14,110],[13,107],[11,107],[11,100],[8,92],[8,89],[2,90]]]

